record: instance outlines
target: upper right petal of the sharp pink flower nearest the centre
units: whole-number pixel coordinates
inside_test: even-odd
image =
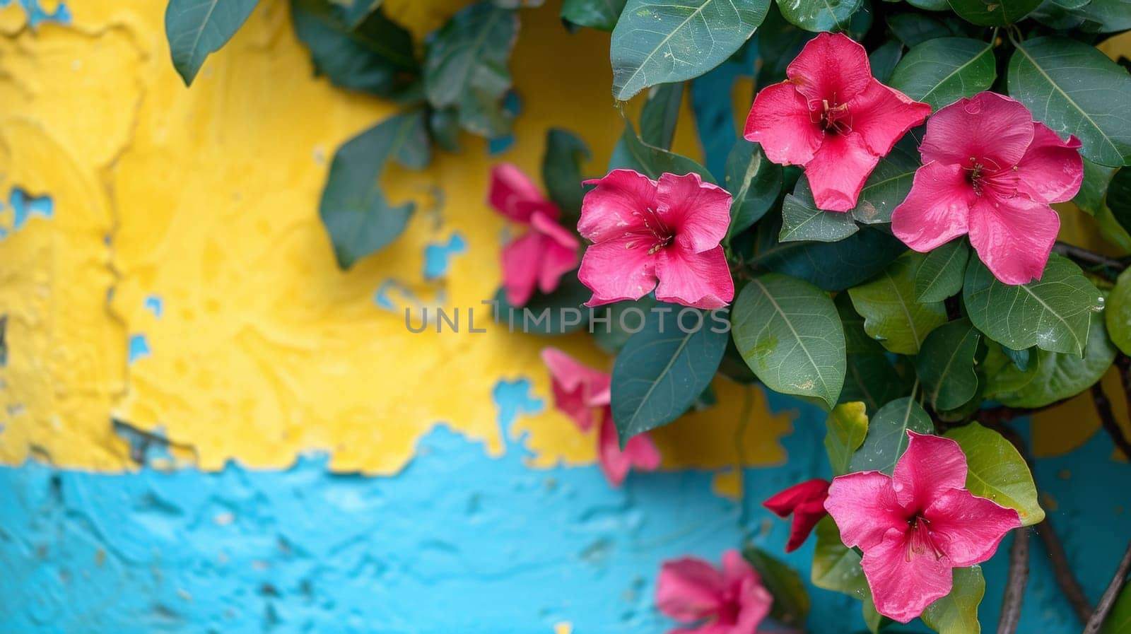
[[[705,183],[699,174],[663,174],[656,188],[656,216],[675,240],[698,253],[718,246],[731,224],[731,192]]]

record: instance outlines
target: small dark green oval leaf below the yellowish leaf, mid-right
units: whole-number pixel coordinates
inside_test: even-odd
[[[926,336],[915,367],[932,409],[957,409],[977,393],[974,354],[981,338],[968,319],[944,323]]]

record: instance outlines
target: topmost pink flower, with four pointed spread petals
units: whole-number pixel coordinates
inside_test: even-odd
[[[931,114],[877,81],[864,47],[839,33],[810,40],[786,76],[754,97],[745,138],[774,163],[804,165],[821,209],[856,207],[880,157]]]

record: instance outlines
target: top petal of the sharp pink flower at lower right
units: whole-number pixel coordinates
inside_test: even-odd
[[[907,437],[907,450],[891,474],[900,506],[922,511],[940,495],[966,486],[966,454],[958,443],[912,431]]]

